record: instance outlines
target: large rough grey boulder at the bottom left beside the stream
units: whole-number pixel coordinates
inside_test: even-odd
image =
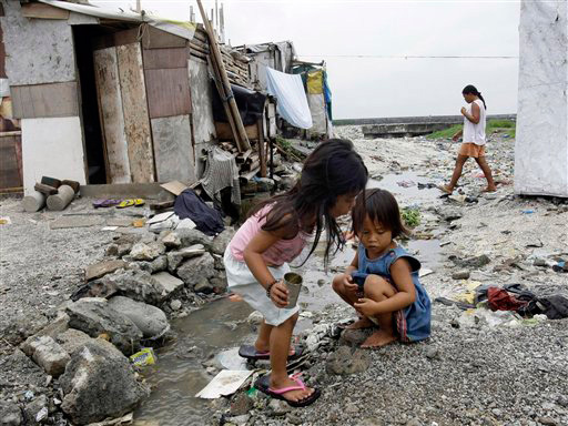
[[[94,339],[73,354],[60,378],[61,408],[79,425],[119,417],[150,394],[135,379],[128,358],[103,339]]]

